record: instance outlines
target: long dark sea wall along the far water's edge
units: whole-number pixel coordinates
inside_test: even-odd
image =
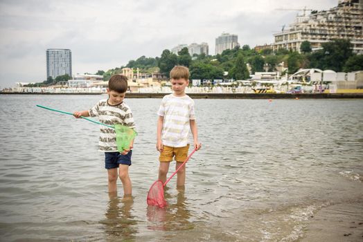
[[[0,95],[102,95],[106,93],[2,93]],[[127,98],[162,98],[170,93],[126,93]],[[186,93],[193,99],[334,99],[363,98],[363,93]]]

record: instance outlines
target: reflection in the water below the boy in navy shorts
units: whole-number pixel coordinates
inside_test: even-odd
[[[105,225],[107,239],[123,241],[135,239],[137,234],[136,220],[131,210],[134,204],[132,196],[118,197],[116,194],[109,195],[109,203],[105,213],[105,219],[100,221]]]

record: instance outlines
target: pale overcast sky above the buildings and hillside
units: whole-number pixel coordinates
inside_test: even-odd
[[[73,75],[96,73],[178,44],[206,42],[214,55],[222,32],[238,35],[241,46],[271,44],[296,9],[335,6],[337,0],[0,0],[0,89],[46,80],[47,48],[71,50]]]

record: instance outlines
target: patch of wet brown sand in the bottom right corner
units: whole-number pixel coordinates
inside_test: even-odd
[[[322,208],[310,218],[302,242],[363,241],[363,202]]]

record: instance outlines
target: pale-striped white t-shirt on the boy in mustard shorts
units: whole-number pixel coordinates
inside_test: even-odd
[[[195,120],[194,101],[188,95],[177,97],[165,95],[161,101],[158,115],[163,116],[161,141],[170,147],[188,145],[189,120]]]

